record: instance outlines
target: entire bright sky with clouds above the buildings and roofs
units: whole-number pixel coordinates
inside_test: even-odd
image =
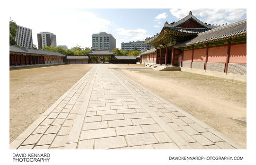
[[[56,35],[57,45],[69,48],[79,44],[91,48],[91,35],[100,32],[112,34],[121,48],[122,42],[144,41],[160,33],[165,21],[177,22],[189,11],[202,22],[230,24],[247,18],[247,9],[44,9],[12,10],[9,17],[17,25],[32,29],[33,44],[37,33]],[[33,14],[31,14],[33,13]]]

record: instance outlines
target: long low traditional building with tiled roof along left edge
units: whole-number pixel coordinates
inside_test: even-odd
[[[41,49],[26,48],[9,45],[10,67],[28,65],[56,65],[64,64],[65,55],[59,52],[46,51]]]

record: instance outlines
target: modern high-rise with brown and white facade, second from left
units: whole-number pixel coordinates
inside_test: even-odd
[[[56,35],[50,32],[40,32],[37,34],[38,49],[45,46],[56,47]]]

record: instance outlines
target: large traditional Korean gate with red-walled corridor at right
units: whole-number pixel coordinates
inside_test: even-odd
[[[246,23],[244,19],[212,26],[190,12],[176,23],[166,22],[159,34],[146,38],[155,52],[140,55],[146,64],[180,66],[183,71],[246,81]]]

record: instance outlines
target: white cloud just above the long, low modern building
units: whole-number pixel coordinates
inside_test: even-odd
[[[130,41],[137,41],[137,40],[145,40],[146,37],[149,37],[150,35],[146,35],[145,29],[137,28],[134,29],[124,29],[124,28],[117,28],[116,31],[118,31],[118,35],[125,35],[130,36]]]

